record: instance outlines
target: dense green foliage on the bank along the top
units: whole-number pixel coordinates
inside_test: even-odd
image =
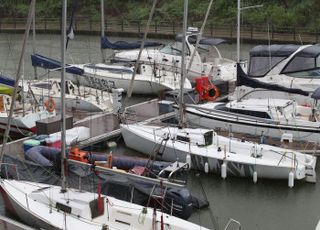
[[[77,16],[100,18],[100,0],[78,0]],[[0,17],[26,17],[29,8],[26,0],[0,0]],[[59,17],[61,0],[37,0],[37,17]],[[184,0],[159,0],[154,19],[181,22]],[[71,11],[73,1],[68,1]],[[104,0],[107,19],[146,20],[153,0]],[[242,24],[267,24],[275,27],[311,27],[320,29],[319,0],[241,0],[241,7],[263,4],[262,8],[242,11]],[[208,8],[208,0],[189,0],[190,22],[201,23]],[[237,0],[215,0],[208,23],[236,22]]]

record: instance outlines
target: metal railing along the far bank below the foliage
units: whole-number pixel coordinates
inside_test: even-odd
[[[25,18],[0,18],[0,32],[19,31],[25,29]],[[105,29],[109,33],[141,34],[146,26],[146,20],[105,20]],[[200,28],[202,22],[191,22],[189,26]],[[60,31],[60,18],[37,18],[36,29],[43,33]],[[77,17],[74,20],[74,30],[86,34],[99,34],[100,20],[87,17]],[[236,38],[235,23],[208,23],[204,36]],[[182,23],[175,21],[152,21],[149,34],[153,36],[175,36],[182,31]],[[307,27],[278,27],[274,25],[242,25],[241,39],[247,41],[272,40],[296,43],[318,43],[320,29]]]

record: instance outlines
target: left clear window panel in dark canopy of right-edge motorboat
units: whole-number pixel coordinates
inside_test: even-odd
[[[248,75],[250,77],[263,77],[285,58],[287,57],[251,57]]]

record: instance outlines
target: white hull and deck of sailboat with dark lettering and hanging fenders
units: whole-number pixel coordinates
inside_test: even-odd
[[[162,140],[161,136],[154,135],[157,132],[154,130],[161,130],[161,127],[139,127],[137,125],[122,125],[121,133],[126,145],[147,155],[153,154],[155,145]],[[163,127],[163,132],[165,130],[168,130],[168,128]],[[174,135],[176,131],[170,129],[168,132]],[[212,147],[204,147],[189,145],[169,138],[165,144],[162,159],[176,161],[178,158],[181,162],[187,162],[187,156],[189,155],[192,168],[204,171],[207,163],[209,171],[214,173],[221,173],[221,166],[225,161],[227,163],[227,174],[240,177],[252,177],[254,172],[257,172],[258,177],[272,179],[288,179],[290,172],[295,172],[295,179],[306,177],[307,168],[304,158],[308,156],[300,156],[303,163],[293,168],[293,162],[289,159],[292,155],[289,156],[289,153],[278,154],[276,152],[282,150],[276,147],[257,146],[251,142],[230,142],[228,138],[224,137],[218,137],[215,143]],[[252,157],[251,150],[254,146],[266,151],[261,158]],[[217,151],[219,147],[221,151]],[[226,154],[224,154],[224,148],[226,148]],[[283,160],[281,160],[281,156]],[[314,169],[316,158],[310,156],[307,161],[309,161],[310,168]]]

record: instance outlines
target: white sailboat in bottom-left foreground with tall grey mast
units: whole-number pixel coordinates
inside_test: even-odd
[[[30,12],[35,1],[31,2]],[[62,12],[62,93],[64,105],[66,1]],[[29,14],[28,24],[31,23]],[[65,107],[62,106],[61,163],[66,166]],[[1,156],[2,160],[2,156]],[[157,210],[120,201],[98,193],[83,192],[66,186],[65,167],[61,167],[61,187],[48,184],[1,179],[0,188],[6,207],[23,221],[42,229],[206,229]],[[99,189],[98,189],[99,190]]]

